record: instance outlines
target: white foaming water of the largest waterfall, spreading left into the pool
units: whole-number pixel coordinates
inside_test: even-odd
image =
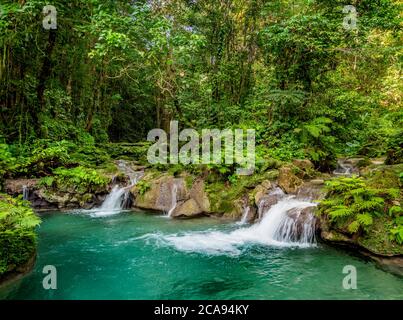
[[[277,247],[311,247],[315,243],[314,218],[302,225],[300,237],[293,232],[298,228],[297,219],[287,215],[290,209],[302,210],[314,203],[287,197],[272,206],[263,219],[250,227],[234,231],[195,231],[182,234],[148,234],[141,239],[156,240],[177,250],[206,254],[239,255],[247,244],[263,244]]]

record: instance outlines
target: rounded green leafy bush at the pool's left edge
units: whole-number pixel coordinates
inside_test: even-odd
[[[0,194],[0,279],[33,258],[39,223],[28,202]]]

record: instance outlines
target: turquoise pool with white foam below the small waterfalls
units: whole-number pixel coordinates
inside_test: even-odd
[[[271,213],[252,226],[127,210],[102,216],[42,214],[34,270],[0,289],[0,298],[403,298],[402,278],[314,239],[293,243],[284,228],[273,227],[284,217]],[[287,226],[287,221],[277,223]],[[42,287],[46,265],[57,268],[57,290]],[[357,268],[356,290],[342,287],[346,265]]]

